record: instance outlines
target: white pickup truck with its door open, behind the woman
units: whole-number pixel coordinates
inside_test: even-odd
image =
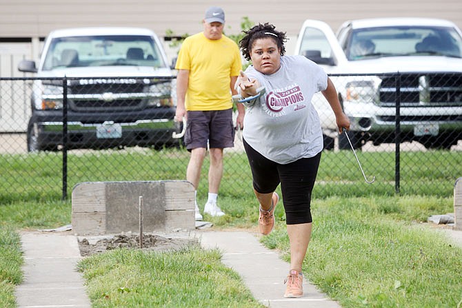
[[[295,54],[323,66],[339,92],[356,149],[392,143],[399,102],[399,138],[427,148],[450,149],[462,139],[462,33],[441,19],[387,18],[347,21],[337,33],[307,20]],[[322,95],[315,96],[325,148],[337,127]],[[339,147],[350,147],[339,136]]]

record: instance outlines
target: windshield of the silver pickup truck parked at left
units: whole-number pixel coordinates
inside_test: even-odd
[[[42,70],[117,65],[166,66],[152,37],[95,35],[52,39]]]

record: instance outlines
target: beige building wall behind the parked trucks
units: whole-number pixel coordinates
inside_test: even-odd
[[[462,28],[461,0],[0,0],[0,37],[44,37],[54,28],[81,25],[134,25],[160,36],[167,29],[194,33],[212,5],[225,10],[232,33],[239,32],[245,16],[274,23],[289,36],[297,35],[305,19],[321,19],[337,28],[356,18],[437,17]]]

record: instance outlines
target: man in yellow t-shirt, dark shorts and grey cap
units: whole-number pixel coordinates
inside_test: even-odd
[[[223,148],[234,146],[232,124],[232,98],[237,94],[234,83],[242,69],[237,44],[223,35],[225,13],[221,8],[210,7],[203,19],[203,32],[183,41],[178,54],[177,112],[175,119],[187,119],[185,145],[191,152],[186,179],[199,186],[201,168],[208,147],[208,201],[204,212],[222,216],[217,196],[223,176]],[[237,106],[237,125],[243,127],[244,107]],[[195,202],[196,220],[202,220]]]

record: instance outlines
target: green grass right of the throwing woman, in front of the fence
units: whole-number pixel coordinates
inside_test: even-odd
[[[303,272],[342,307],[456,307],[462,249],[422,216],[452,212],[441,198],[328,198],[313,203]],[[289,260],[285,226],[263,239]]]

